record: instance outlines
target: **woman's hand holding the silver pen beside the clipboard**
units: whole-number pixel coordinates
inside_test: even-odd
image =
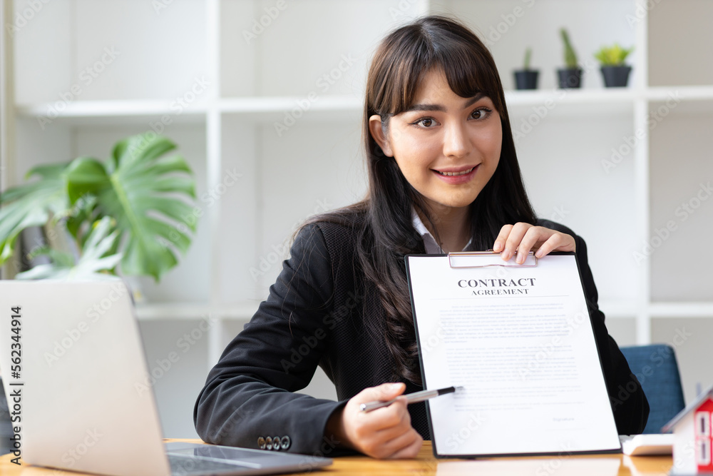
[[[411,426],[406,399],[399,398],[388,407],[362,412],[359,405],[376,400],[391,400],[406,389],[404,383],[384,383],[361,390],[342,410],[329,417],[327,434],[342,446],[380,459],[413,458],[419,454],[424,439]]]

